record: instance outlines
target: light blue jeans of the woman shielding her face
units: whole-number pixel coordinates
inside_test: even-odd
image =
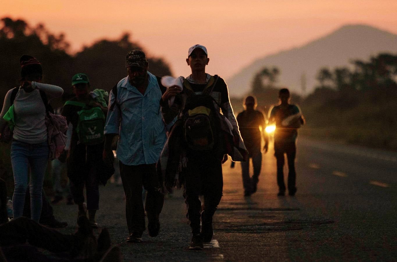
[[[11,164],[14,173],[14,194],[12,197],[14,219],[21,217],[25,204],[30,167],[30,208],[31,219],[39,223],[42,208],[41,191],[48,163],[48,144],[28,144],[13,140],[11,144]]]

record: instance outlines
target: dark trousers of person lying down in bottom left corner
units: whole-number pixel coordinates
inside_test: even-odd
[[[0,225],[0,246],[25,244],[26,241],[55,253],[70,252],[75,245],[81,244],[74,235],[64,235],[26,217]]]

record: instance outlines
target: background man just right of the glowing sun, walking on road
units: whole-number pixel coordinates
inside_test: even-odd
[[[288,193],[294,196],[296,188],[295,155],[297,129],[304,124],[303,115],[296,105],[289,104],[289,90],[282,88],[279,91],[280,104],[270,110],[269,122],[276,124],[274,132],[274,155],[277,160],[278,196],[285,195],[284,184],[284,153],[287,154],[288,163]]]

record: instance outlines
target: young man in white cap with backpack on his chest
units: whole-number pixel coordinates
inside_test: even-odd
[[[172,121],[175,116],[178,116],[178,121],[183,122],[180,126],[184,126],[186,131],[184,131],[184,134],[185,137],[187,137],[187,132],[190,132],[187,131],[187,129],[191,128],[191,126],[188,128],[186,127],[186,112],[189,110],[189,112],[192,113],[193,111],[203,108],[203,106],[200,107],[200,104],[192,106],[192,103],[194,103],[193,101],[197,102],[197,99],[207,99],[212,106],[208,106],[207,103],[206,108],[212,107],[214,111],[218,111],[218,114],[220,108],[222,108],[223,115],[229,120],[231,126],[233,126],[234,138],[242,141],[238,131],[237,121],[229,101],[229,94],[225,81],[219,76],[211,76],[205,72],[205,67],[208,65],[209,61],[210,59],[208,58],[206,47],[194,45],[189,48],[186,62],[187,65],[190,66],[192,74],[183,81],[183,91],[177,86],[172,86],[169,87],[162,96],[160,104],[162,105],[164,121],[168,123]],[[175,103],[169,106],[167,102],[173,96],[176,96]],[[208,116],[211,117],[211,113],[209,113]],[[196,121],[193,121],[192,125],[201,120],[202,119],[197,118]],[[175,144],[175,138],[181,137],[180,135],[178,136],[176,131],[177,123],[171,131],[168,143]],[[186,154],[185,156],[181,155],[181,159],[186,158],[187,161],[179,162],[179,156],[177,157],[177,163],[180,163],[179,166],[182,170],[178,178],[179,184],[183,184],[184,186],[183,196],[185,197],[187,206],[187,218],[189,219],[189,225],[193,235],[189,246],[190,250],[202,250],[204,246],[203,242],[210,242],[212,239],[212,216],[222,198],[222,163],[227,160],[227,155],[224,155],[224,153],[219,150],[219,148],[222,147],[222,142],[217,141],[216,136],[208,138],[206,135],[206,130],[208,130],[208,128],[198,127],[197,130],[195,134],[192,133],[192,136],[196,136],[196,140],[193,139],[197,142],[196,148],[207,146],[207,149],[195,149],[194,146],[189,146],[191,141],[185,138],[186,142],[181,143],[181,150],[178,150],[178,153],[179,151],[185,151]],[[173,132],[176,133],[174,136],[175,138],[173,138]],[[215,134],[217,132],[214,131],[213,133]],[[210,144],[213,144],[213,147],[210,147]],[[170,147],[171,146],[172,145],[170,145]],[[245,150],[242,142],[241,147]],[[170,157],[173,155],[173,150],[175,149],[170,150]],[[168,161],[168,163],[173,162],[175,161]],[[167,171],[167,173],[170,172]],[[199,195],[203,196],[204,203],[200,202],[198,198]],[[200,219],[202,222],[201,230]]]

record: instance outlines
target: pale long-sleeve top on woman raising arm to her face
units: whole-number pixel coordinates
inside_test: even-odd
[[[13,139],[28,144],[38,144],[47,141],[47,127],[45,124],[46,109],[40,96],[42,90],[46,93],[48,101],[59,97],[64,89],[56,85],[32,82],[33,91],[25,92],[20,88],[14,99],[15,126]],[[11,104],[12,89],[4,98],[3,109],[0,113],[0,132],[4,130],[7,122],[3,119]]]

